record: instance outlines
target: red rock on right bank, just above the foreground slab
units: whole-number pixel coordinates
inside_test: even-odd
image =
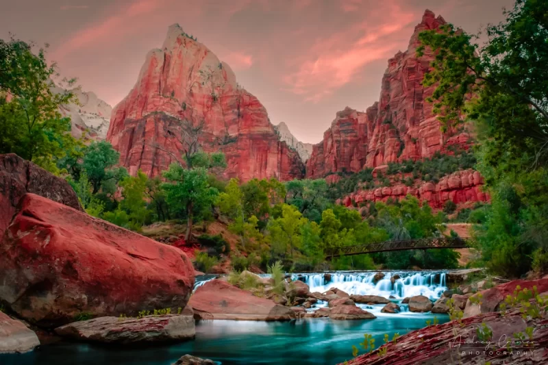
[[[536,286],[537,292],[540,294],[548,292],[548,279],[514,280],[473,294],[466,302],[464,318],[475,316],[479,313],[498,312],[500,303],[506,299],[507,295],[513,295],[517,286],[520,286],[521,290],[525,288],[533,290],[533,287]],[[479,297],[479,294],[482,295],[481,305],[473,304],[473,298]]]

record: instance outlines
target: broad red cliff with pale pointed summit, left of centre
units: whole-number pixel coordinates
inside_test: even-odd
[[[160,175],[184,151],[182,123],[201,126],[195,136],[205,151],[225,153],[224,177],[303,177],[299,155],[279,140],[260,101],[236,84],[227,64],[172,25],[114,108],[107,140],[129,173]]]

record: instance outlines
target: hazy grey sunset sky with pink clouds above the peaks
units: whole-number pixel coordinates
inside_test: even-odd
[[[62,75],[111,105],[150,49],[179,23],[303,142],[338,110],[379,99],[388,58],[407,49],[425,9],[477,32],[513,0],[0,0],[0,38],[48,42]]]

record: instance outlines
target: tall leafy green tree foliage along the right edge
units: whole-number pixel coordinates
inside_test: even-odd
[[[485,217],[474,217],[483,261],[494,273],[520,277],[548,243],[548,21],[544,1],[516,0],[503,14],[486,27],[482,48],[449,24],[421,33],[418,51],[436,50],[423,84],[436,84],[432,101],[443,128],[467,118],[479,131],[477,168],[492,197]]]

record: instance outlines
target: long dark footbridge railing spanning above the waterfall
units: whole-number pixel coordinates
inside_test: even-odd
[[[353,246],[341,246],[327,249],[326,257],[341,255],[360,255],[362,253],[375,253],[387,251],[403,251],[417,249],[464,249],[473,244],[471,238],[440,237],[419,238],[415,240],[383,241],[369,244],[356,244]]]

